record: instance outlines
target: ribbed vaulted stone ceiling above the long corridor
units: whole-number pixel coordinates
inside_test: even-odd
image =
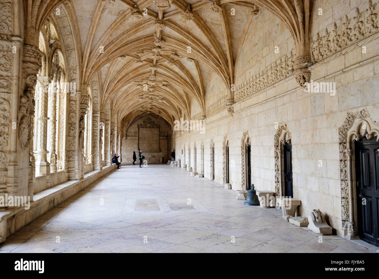
[[[308,43],[304,28],[309,29],[307,10],[312,9],[309,1],[300,0],[36,2],[34,9],[26,8],[41,14],[28,22],[29,30],[39,30],[62,2],[74,10],[81,84],[99,76],[103,104],[110,101],[112,112],[125,125],[142,113],[160,115],[172,124],[182,113],[191,117],[193,102],[205,115],[209,77],[215,73],[226,88],[233,84],[234,65],[258,6],[282,19],[298,46]],[[303,11],[302,17],[297,10]]]

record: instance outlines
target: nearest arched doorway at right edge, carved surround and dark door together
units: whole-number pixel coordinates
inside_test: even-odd
[[[338,133],[342,229],[348,239],[379,246],[379,123],[366,108],[348,112]]]

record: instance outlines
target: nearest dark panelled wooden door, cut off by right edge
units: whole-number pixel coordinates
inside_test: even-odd
[[[359,237],[379,246],[379,143],[376,137],[355,142]]]

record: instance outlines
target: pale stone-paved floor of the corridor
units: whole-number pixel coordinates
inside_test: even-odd
[[[0,244],[0,252],[375,252],[246,206],[166,164],[122,166]],[[234,240],[234,243],[232,243]]]

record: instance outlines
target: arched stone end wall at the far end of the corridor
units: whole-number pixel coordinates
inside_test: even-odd
[[[133,151],[136,151],[136,156],[137,156],[137,162],[139,163],[138,160],[138,125],[144,125],[145,123],[154,123],[154,125],[159,126],[159,147],[160,151],[155,152],[155,151],[146,151],[142,150],[143,155],[145,156],[145,160],[147,160],[147,163],[159,163],[160,158],[164,158],[164,162],[168,161],[167,158],[167,139],[166,135],[169,135],[169,144],[170,144],[170,149],[169,149],[169,156],[171,156],[171,151],[172,151],[172,138],[171,138],[171,132],[170,129],[165,123],[165,121],[161,120],[160,118],[154,117],[153,115],[149,116],[144,116],[141,118],[138,118],[129,128],[127,131],[126,137],[122,137],[122,160],[124,163],[131,163],[133,162]],[[146,124],[149,126],[150,124]],[[151,132],[149,132],[149,128],[143,128],[143,132],[145,133],[143,138],[145,143],[144,145],[150,146],[150,143],[154,145],[153,148],[156,148],[157,144],[155,143],[157,139],[157,134],[156,134],[156,129],[151,128]],[[153,144],[154,143],[154,144]],[[151,145],[151,146],[152,146]],[[140,148],[142,148],[140,146]],[[171,158],[169,158],[171,159]]]

